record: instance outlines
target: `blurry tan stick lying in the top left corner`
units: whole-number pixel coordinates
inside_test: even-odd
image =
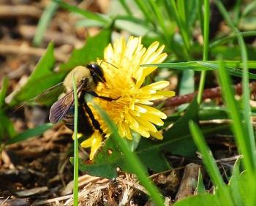
[[[42,11],[29,5],[0,5],[0,18],[31,17],[40,18]]]

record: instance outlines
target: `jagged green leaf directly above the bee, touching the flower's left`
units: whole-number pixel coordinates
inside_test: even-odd
[[[111,38],[110,29],[102,30],[97,36],[86,39],[86,44],[72,52],[71,57],[65,64],[61,64],[61,70],[71,70],[75,66],[89,64],[97,58],[103,58],[103,51],[109,44]]]

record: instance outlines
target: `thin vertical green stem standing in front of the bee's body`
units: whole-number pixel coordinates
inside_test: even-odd
[[[74,114],[74,186],[73,199],[74,205],[78,205],[78,94],[75,83],[75,75],[73,76],[73,89],[75,100],[75,114]]]

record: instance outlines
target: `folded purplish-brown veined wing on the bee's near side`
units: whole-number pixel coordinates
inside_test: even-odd
[[[83,84],[78,86],[78,94],[83,88]],[[64,97],[59,99],[50,107],[50,123],[56,123],[64,117],[69,111],[69,108],[74,104],[74,93],[73,91],[66,94]]]

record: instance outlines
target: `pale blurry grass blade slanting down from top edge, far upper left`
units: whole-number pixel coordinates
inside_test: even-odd
[[[59,3],[57,1],[51,1],[49,6],[42,13],[39,23],[37,25],[36,33],[34,34],[33,44],[39,46],[42,42],[42,38],[45,34],[45,31],[50,23],[51,18],[58,9]]]

